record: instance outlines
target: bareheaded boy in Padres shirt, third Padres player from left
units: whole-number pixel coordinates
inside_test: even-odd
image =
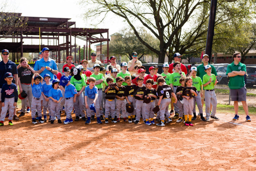
[[[124,89],[124,97],[127,101],[127,103],[133,105],[133,112],[128,113],[128,123],[135,122],[135,99],[133,97],[134,88],[136,87],[135,84],[132,84],[131,76],[125,76],[124,77],[125,82],[127,83],[127,86]]]

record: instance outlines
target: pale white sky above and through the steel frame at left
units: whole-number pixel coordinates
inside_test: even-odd
[[[0,0],[0,2],[1,1],[5,2],[5,0]],[[76,22],[76,27],[92,28],[92,26],[90,26],[90,23],[83,19],[82,14],[84,13],[84,9],[82,9],[80,5],[78,5],[77,1],[72,2],[68,0],[7,0],[5,12],[8,11],[22,13],[22,16],[29,17],[71,18],[69,21]],[[110,17],[106,18],[103,23],[98,25],[98,28],[108,28],[109,35],[118,32],[123,27],[125,27],[125,23],[122,21],[121,18],[118,18],[114,15],[110,15]],[[72,44],[74,42],[73,39],[71,40]],[[43,39],[43,41],[44,40],[45,39]],[[43,44],[47,44],[47,40],[45,41],[46,42],[43,42]],[[33,39],[32,43],[39,44],[39,39]],[[31,40],[25,40],[24,44],[31,44]],[[86,44],[86,42],[77,38],[76,44],[83,46]],[[91,46],[92,49],[95,49],[94,45]]]

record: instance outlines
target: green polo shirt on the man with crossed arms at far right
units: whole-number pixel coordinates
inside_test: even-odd
[[[239,62],[238,65],[235,65],[234,62],[232,62],[228,65],[226,74],[228,75],[229,72],[240,70],[246,72],[246,65],[241,62]],[[229,77],[228,87],[230,89],[240,89],[244,87],[244,76],[237,75],[234,77]]]

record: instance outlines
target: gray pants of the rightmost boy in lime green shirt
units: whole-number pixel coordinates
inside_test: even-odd
[[[206,91],[205,90],[205,113],[206,119],[210,118],[210,104],[212,104],[211,116],[215,116],[217,108],[217,98],[215,91]]]

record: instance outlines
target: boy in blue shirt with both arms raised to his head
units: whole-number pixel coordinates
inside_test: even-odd
[[[38,114],[38,122],[45,123],[42,120],[42,110],[41,110],[41,92],[42,92],[42,82],[43,78],[38,74],[35,73],[31,80],[31,88],[32,88],[32,102],[31,102],[31,117],[32,123],[37,124],[35,120],[36,110]]]

